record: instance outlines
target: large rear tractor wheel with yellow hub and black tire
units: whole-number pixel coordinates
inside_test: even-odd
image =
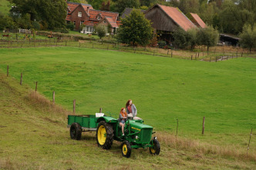
[[[113,145],[114,132],[112,125],[101,121],[96,131],[96,140],[99,147],[109,149]]]

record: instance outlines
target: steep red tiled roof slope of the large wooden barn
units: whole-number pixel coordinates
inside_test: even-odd
[[[170,6],[164,6],[164,5],[158,5],[160,8],[163,9],[163,11],[173,19],[173,22],[176,22],[177,25],[180,25],[181,28],[183,28],[185,31],[187,31],[190,28],[195,28],[196,25],[194,25],[189,18],[187,18],[184,13],[180,12],[180,9],[173,8]]]

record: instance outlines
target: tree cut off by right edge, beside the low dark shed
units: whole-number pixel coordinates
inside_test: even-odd
[[[251,28],[251,25],[244,25],[240,38],[242,47],[249,48],[251,53],[251,48],[256,48],[256,27]]]

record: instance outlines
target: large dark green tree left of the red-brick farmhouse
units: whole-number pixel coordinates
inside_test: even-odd
[[[8,0],[15,4],[11,9],[15,18],[29,15],[30,21],[39,21],[42,28],[62,28],[66,25],[66,1],[65,0]]]

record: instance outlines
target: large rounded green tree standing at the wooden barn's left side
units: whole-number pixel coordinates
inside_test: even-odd
[[[122,18],[117,38],[133,46],[148,45],[153,38],[153,28],[140,10],[133,9],[130,15]]]

